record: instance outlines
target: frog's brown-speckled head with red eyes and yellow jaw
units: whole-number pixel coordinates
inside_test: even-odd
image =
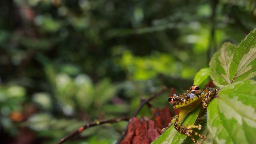
[[[186,92],[177,95],[172,94],[168,101],[174,108],[188,106],[201,98],[202,90],[199,86],[191,86]]]

